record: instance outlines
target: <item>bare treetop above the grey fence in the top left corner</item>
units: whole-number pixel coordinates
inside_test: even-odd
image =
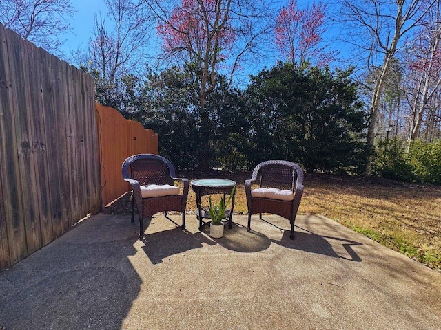
[[[70,0],[0,0],[0,22],[48,52],[61,56],[60,35],[70,30]]]

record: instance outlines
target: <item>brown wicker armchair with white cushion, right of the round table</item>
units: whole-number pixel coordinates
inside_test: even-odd
[[[252,190],[252,184],[257,184],[258,189]],[[262,213],[271,213],[291,222],[290,238],[294,239],[294,221],[302,194],[303,171],[300,166],[283,160],[268,160],[258,164],[252,178],[245,181],[248,232],[251,230],[252,214],[259,213],[262,219]]]

